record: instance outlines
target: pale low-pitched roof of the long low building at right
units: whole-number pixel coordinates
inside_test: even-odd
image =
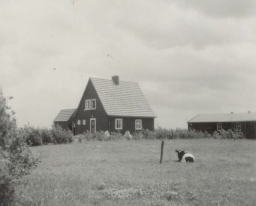
[[[198,114],[188,123],[210,122],[251,122],[256,121],[256,113]]]

